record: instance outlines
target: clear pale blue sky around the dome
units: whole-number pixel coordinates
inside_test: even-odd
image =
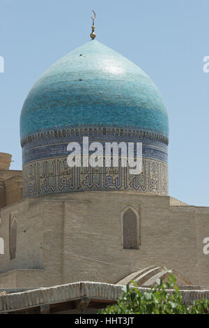
[[[1,0],[0,151],[21,170],[19,119],[38,77],[89,40],[134,61],[159,87],[169,112],[169,194],[209,206],[208,0]]]

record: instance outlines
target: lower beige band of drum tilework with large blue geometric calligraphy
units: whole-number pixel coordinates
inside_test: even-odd
[[[130,175],[127,167],[73,167],[65,157],[34,161],[23,167],[24,197],[72,191],[132,190],[157,195],[168,193],[168,167],[143,159],[142,173]]]

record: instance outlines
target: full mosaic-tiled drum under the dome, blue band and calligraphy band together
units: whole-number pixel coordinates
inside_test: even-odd
[[[124,129],[122,129],[124,130]],[[167,143],[158,139],[157,135],[121,133],[121,129],[116,128],[117,133],[90,133],[89,129],[78,134],[61,133],[52,138],[49,135],[38,135],[33,140],[28,140],[22,149],[23,175],[24,175],[24,196],[47,195],[50,193],[90,191],[90,190],[135,190],[159,195],[168,193],[168,173],[167,173]],[[71,131],[72,132],[72,131]],[[98,132],[98,131],[97,131]],[[100,133],[102,132],[99,131]],[[142,143],[142,156],[144,160],[144,174],[141,176],[130,176],[127,169],[100,168],[86,170],[86,168],[67,167],[66,158],[70,142],[77,141],[81,146],[83,136],[88,134],[89,144],[91,142],[101,142],[103,144],[103,154],[105,142],[134,142],[134,154],[136,155],[137,142]],[[86,136],[85,135],[85,136]],[[53,135],[54,136],[54,135]],[[153,139],[151,138],[153,137]],[[31,142],[30,142],[31,141]],[[119,153],[120,154],[120,153]],[[91,155],[91,152],[89,152]]]

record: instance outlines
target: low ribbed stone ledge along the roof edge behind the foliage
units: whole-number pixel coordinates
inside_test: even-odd
[[[35,290],[26,290],[24,292],[15,292],[13,294],[0,296],[0,313],[19,311],[26,308],[62,303],[65,301],[74,301],[87,297],[88,299],[98,299],[101,301],[116,301],[121,294],[123,285],[112,285],[108,283],[95,283],[80,281],[68,283],[50,288],[38,288]],[[150,288],[141,288],[141,292],[150,290]],[[172,290],[168,290],[172,292]],[[184,304],[192,304],[194,300],[200,300],[203,297],[209,299],[209,290],[180,290]]]

